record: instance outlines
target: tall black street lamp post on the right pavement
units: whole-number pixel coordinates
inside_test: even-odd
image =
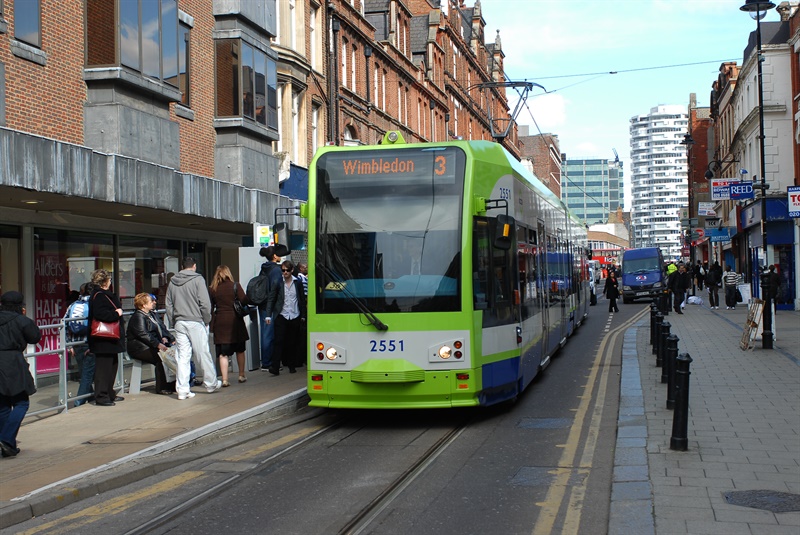
[[[775,7],[772,2],[764,0],[746,0],[741,11],[750,13],[756,20],[756,68],[758,74],[758,126],[761,138],[761,247],[764,249],[764,267],[767,263],[767,164],[764,157],[764,83],[761,73],[761,19],[767,11]],[[772,298],[769,295],[769,278],[766,269],[761,273],[761,293],[764,298],[764,329],[761,333],[761,347],[772,349]]]

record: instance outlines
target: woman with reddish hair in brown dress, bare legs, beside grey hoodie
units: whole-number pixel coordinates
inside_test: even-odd
[[[214,306],[214,316],[211,319],[211,332],[214,333],[214,344],[219,358],[219,370],[222,374],[222,386],[230,386],[228,382],[229,358],[236,354],[236,363],[239,366],[239,382],[247,381],[247,372],[244,362],[245,344],[250,339],[244,318],[239,317],[233,308],[234,297],[242,305],[247,305],[247,296],[242,287],[233,280],[233,275],[228,266],[217,266],[214,277],[209,286],[211,303]]]

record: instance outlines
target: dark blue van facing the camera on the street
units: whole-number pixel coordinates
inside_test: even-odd
[[[667,286],[664,258],[658,247],[628,249],[622,253],[622,302],[653,299]]]

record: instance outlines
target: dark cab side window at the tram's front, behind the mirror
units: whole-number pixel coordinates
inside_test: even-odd
[[[495,219],[476,218],[473,229],[473,293],[476,310],[485,310],[483,326],[515,321],[512,251],[492,247]]]

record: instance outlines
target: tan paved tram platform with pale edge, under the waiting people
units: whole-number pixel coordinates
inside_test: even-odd
[[[305,368],[279,376],[255,370],[245,383],[194,398],[125,393],[113,407],[84,404],[66,414],[26,418],[19,432],[22,452],[0,460],[0,529],[53,511],[99,489],[129,484],[158,465],[131,463],[177,448],[268,411],[293,411],[307,402]],[[236,375],[234,375],[234,379]],[[40,389],[31,411],[57,398],[58,386]],[[55,398],[54,398],[55,396]],[[42,401],[45,400],[45,401]],[[90,477],[94,476],[94,477]]]

